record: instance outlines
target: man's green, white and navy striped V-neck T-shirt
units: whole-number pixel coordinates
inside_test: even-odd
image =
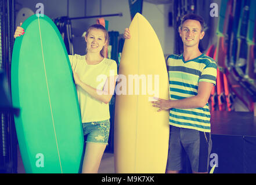
[[[183,99],[197,95],[199,82],[216,84],[217,64],[205,54],[185,61],[183,55],[167,58],[170,99]],[[208,102],[203,108],[170,109],[170,125],[211,132]]]

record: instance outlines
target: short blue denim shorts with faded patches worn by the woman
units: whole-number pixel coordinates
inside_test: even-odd
[[[82,123],[82,128],[84,129],[85,142],[108,144],[109,120]]]

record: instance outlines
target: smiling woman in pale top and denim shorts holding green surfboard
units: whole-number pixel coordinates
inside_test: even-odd
[[[24,34],[24,29],[17,27],[15,38]],[[97,173],[109,139],[109,101],[116,86],[117,64],[105,56],[109,35],[102,25],[91,25],[85,42],[85,56],[75,54],[68,58],[77,88],[86,142],[82,173]]]

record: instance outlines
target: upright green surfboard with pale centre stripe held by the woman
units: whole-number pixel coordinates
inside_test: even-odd
[[[51,18],[34,14],[12,53],[15,125],[26,173],[78,173],[84,149],[80,108],[62,36]]]

